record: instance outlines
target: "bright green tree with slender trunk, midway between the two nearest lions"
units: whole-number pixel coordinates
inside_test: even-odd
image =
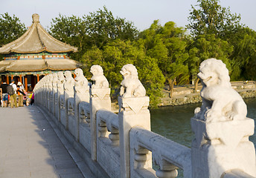
[[[174,22],[167,22],[161,27],[159,21],[154,21],[140,36],[147,56],[157,59],[159,68],[170,86],[171,97],[175,82],[181,85],[189,80],[185,30],[176,27]]]

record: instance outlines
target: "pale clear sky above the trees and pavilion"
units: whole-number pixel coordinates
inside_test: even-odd
[[[177,27],[188,24],[191,5],[197,0],[0,0],[0,14],[17,16],[26,27],[32,24],[33,13],[38,13],[40,23],[48,29],[51,19],[65,16],[89,15],[106,6],[115,17],[133,22],[138,30],[150,27],[159,19],[161,25],[175,22]],[[241,23],[256,30],[256,0],[220,0],[222,7],[230,7],[231,13],[241,16]]]

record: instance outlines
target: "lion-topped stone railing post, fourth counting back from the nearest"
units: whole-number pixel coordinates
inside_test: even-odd
[[[90,102],[90,96],[89,96],[89,86],[88,86],[88,80],[85,76],[83,76],[83,70],[80,68],[77,68],[74,70],[74,73],[76,75],[74,79],[74,118],[76,119],[75,124],[75,139],[77,142],[80,138],[80,131],[79,131],[79,103],[80,102]],[[88,119],[87,121],[88,122]]]

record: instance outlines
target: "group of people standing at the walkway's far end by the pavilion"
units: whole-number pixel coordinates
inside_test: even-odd
[[[10,108],[22,107],[24,105],[33,105],[33,93],[27,93],[22,82],[15,84],[15,80],[12,79],[10,85],[3,81],[0,87],[1,94],[1,107]]]

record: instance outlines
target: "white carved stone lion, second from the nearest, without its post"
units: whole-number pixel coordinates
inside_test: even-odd
[[[120,73],[124,78],[121,82],[120,96],[129,98],[146,95],[146,90],[138,79],[138,72],[134,65],[124,65]]]

